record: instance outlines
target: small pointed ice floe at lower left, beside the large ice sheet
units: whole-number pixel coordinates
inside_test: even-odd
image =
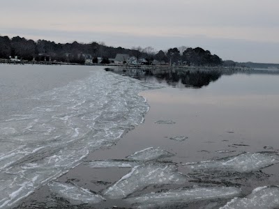
[[[89,189],[84,189],[82,187],[78,187],[77,185],[52,182],[48,183],[48,187],[50,188],[50,191],[52,193],[70,201],[70,203],[75,205],[88,203],[94,204],[105,201],[105,199],[102,196],[98,194],[93,194],[89,191]]]

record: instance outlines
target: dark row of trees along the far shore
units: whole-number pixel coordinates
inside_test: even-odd
[[[151,64],[154,60],[159,63],[169,63],[175,65],[221,65],[222,59],[216,54],[211,54],[201,47],[174,47],[167,51],[156,52],[152,47],[133,47],[125,49],[123,47],[109,47],[103,42],[91,43],[56,43],[49,40],[27,40],[20,36],[9,38],[0,36],[0,59],[9,59],[17,56],[19,59],[27,61],[59,61],[68,63],[84,63],[84,56],[90,54],[93,63],[98,62],[98,57],[103,58],[105,63],[109,58],[115,58],[116,54],[129,54],[137,59],[145,59],[146,64]]]

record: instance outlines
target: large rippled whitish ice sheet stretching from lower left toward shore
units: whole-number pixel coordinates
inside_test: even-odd
[[[0,208],[12,208],[142,123],[149,106],[138,93],[149,88],[94,69],[86,79],[26,98],[35,106],[0,121]]]

